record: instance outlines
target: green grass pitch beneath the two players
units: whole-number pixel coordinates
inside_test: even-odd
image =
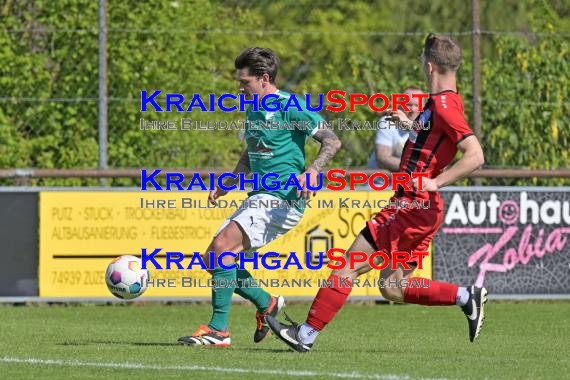
[[[305,319],[308,303],[288,305]],[[562,379],[570,376],[570,302],[493,302],[476,343],[457,307],[349,303],[312,352],[253,343],[255,310],[234,304],[232,346],[176,339],[208,304],[0,306],[0,378]]]

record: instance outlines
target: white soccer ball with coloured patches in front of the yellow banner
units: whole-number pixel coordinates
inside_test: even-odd
[[[142,269],[141,260],[135,256],[119,256],[109,264],[105,282],[109,291],[121,299],[137,298],[147,288],[150,272]]]

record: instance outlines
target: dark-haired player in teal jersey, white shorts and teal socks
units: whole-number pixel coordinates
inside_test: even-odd
[[[236,58],[235,68],[240,82],[240,92],[245,94],[248,100],[257,95],[260,101],[268,94],[275,94],[271,104],[268,102],[267,105],[271,109],[279,109],[273,112],[259,107],[258,111],[254,111],[252,106],[249,107],[246,113],[245,131],[247,148],[233,173],[258,173],[259,178],[267,173],[277,173],[281,180],[280,189],[283,189],[290,174],[295,173],[303,190],[295,186],[291,186],[289,190],[272,191],[260,187],[259,191],[249,193],[248,200],[279,200],[289,205],[293,204],[294,207],[239,209],[220,227],[207,248],[207,255],[214,254],[217,258],[225,251],[237,253],[257,249],[294,228],[303,217],[304,209],[299,204],[303,203],[303,199],[308,199],[312,193],[306,189],[306,174],[310,185],[316,186],[318,174],[341,147],[340,140],[333,131],[318,129],[318,122],[324,119],[316,112],[307,111],[304,102],[299,100],[302,110],[295,107],[289,108],[286,112],[283,110],[290,95],[278,90],[275,85],[278,66],[279,58],[271,49],[249,48]],[[278,103],[280,107],[275,107]],[[256,122],[259,121],[278,121],[281,126],[284,122],[288,125],[291,125],[291,122],[297,122],[298,125],[304,122],[302,125],[306,128],[260,128],[259,125],[256,126]],[[305,141],[308,137],[317,140],[321,148],[315,161],[305,170]],[[235,182],[228,180],[224,185],[232,186]],[[209,200],[215,202],[226,193],[218,187],[210,192]],[[229,266],[234,260],[233,257],[225,256],[223,263]],[[205,262],[209,262],[209,257]],[[269,333],[265,317],[277,315],[284,305],[283,297],[272,296],[261,287],[240,286],[252,279],[247,270],[235,268],[226,270],[216,267],[212,275],[214,280],[226,279],[228,283],[231,283],[231,280],[238,280],[234,281],[237,286],[213,288],[213,313],[210,322],[200,326],[191,336],[181,337],[178,342],[196,346],[229,346],[231,338],[228,331],[228,316],[234,292],[256,306],[257,326],[254,341],[257,343],[264,339]]]

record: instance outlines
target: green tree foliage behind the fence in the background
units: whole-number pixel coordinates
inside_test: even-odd
[[[490,167],[570,167],[567,5],[482,4],[483,30],[539,33],[482,37],[482,129]],[[97,167],[97,2],[6,1],[0,14],[0,166]],[[231,169],[243,149],[237,131],[141,131],[139,120],[231,121],[244,114],[145,113],[140,96],[141,90],[162,90],[185,95],[188,105],[194,93],[236,94],[233,62],[246,47],[271,47],[279,54],[278,84],[286,91],[387,94],[408,85],[425,88],[418,56],[428,31],[468,32],[470,25],[464,1],[109,1],[109,166]],[[471,36],[456,38],[464,48],[459,88],[469,119]],[[377,119],[364,107],[323,114],[329,120]],[[338,134],[345,149],[333,165],[366,165],[374,131]],[[318,145],[309,144],[308,151],[314,157]]]

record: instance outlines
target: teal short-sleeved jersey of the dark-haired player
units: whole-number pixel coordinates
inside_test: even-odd
[[[302,199],[297,198],[297,186],[289,186],[288,190],[283,190],[283,187],[291,173],[299,175],[305,171],[305,141],[307,137],[317,132],[319,122],[324,119],[316,112],[307,111],[305,102],[299,98],[297,100],[303,111],[299,111],[297,107],[289,107],[287,112],[283,111],[290,94],[284,91],[277,91],[276,94],[279,95],[279,99],[270,99],[268,105],[276,108],[277,103],[280,103],[279,110],[265,111],[260,105],[259,111],[253,111],[250,106],[246,113],[245,138],[249,165],[253,173],[259,173],[260,182],[259,190],[252,191],[248,195],[266,193],[302,204]],[[260,122],[266,124],[273,122],[273,124],[271,127],[265,127],[263,124],[260,125]],[[267,173],[279,175],[280,190],[263,188],[261,178]],[[272,181],[276,179],[269,177],[267,184],[271,186]],[[304,211],[304,207],[296,209]]]

